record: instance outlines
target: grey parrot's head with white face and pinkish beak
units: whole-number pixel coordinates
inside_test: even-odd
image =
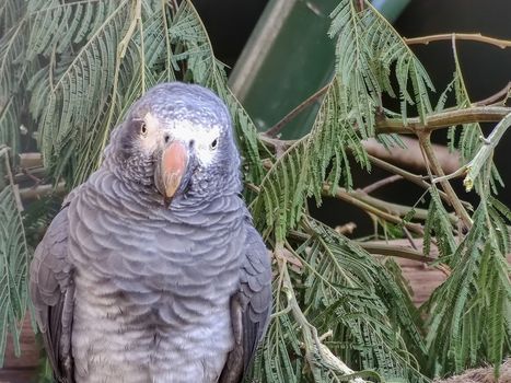
[[[211,91],[179,82],[143,94],[113,132],[120,177],[179,198],[240,193],[240,155],[228,108]]]

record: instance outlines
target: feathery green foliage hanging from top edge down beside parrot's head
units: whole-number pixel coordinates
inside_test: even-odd
[[[393,66],[402,118],[406,120],[408,104],[417,104],[421,118],[431,112],[428,88],[432,84],[420,61],[370,4],[363,11],[357,7],[356,1],[340,1],[332,13],[337,66],[311,132],[276,159],[260,184],[255,216],[266,218],[260,227],[274,230],[277,241],[300,221],[305,197],[314,195],[321,202],[323,182],[333,185],[332,194],[339,183],[351,188],[350,156],[370,170],[361,140],[375,136],[383,92],[394,95]],[[395,142],[385,135],[380,139],[387,146]]]

